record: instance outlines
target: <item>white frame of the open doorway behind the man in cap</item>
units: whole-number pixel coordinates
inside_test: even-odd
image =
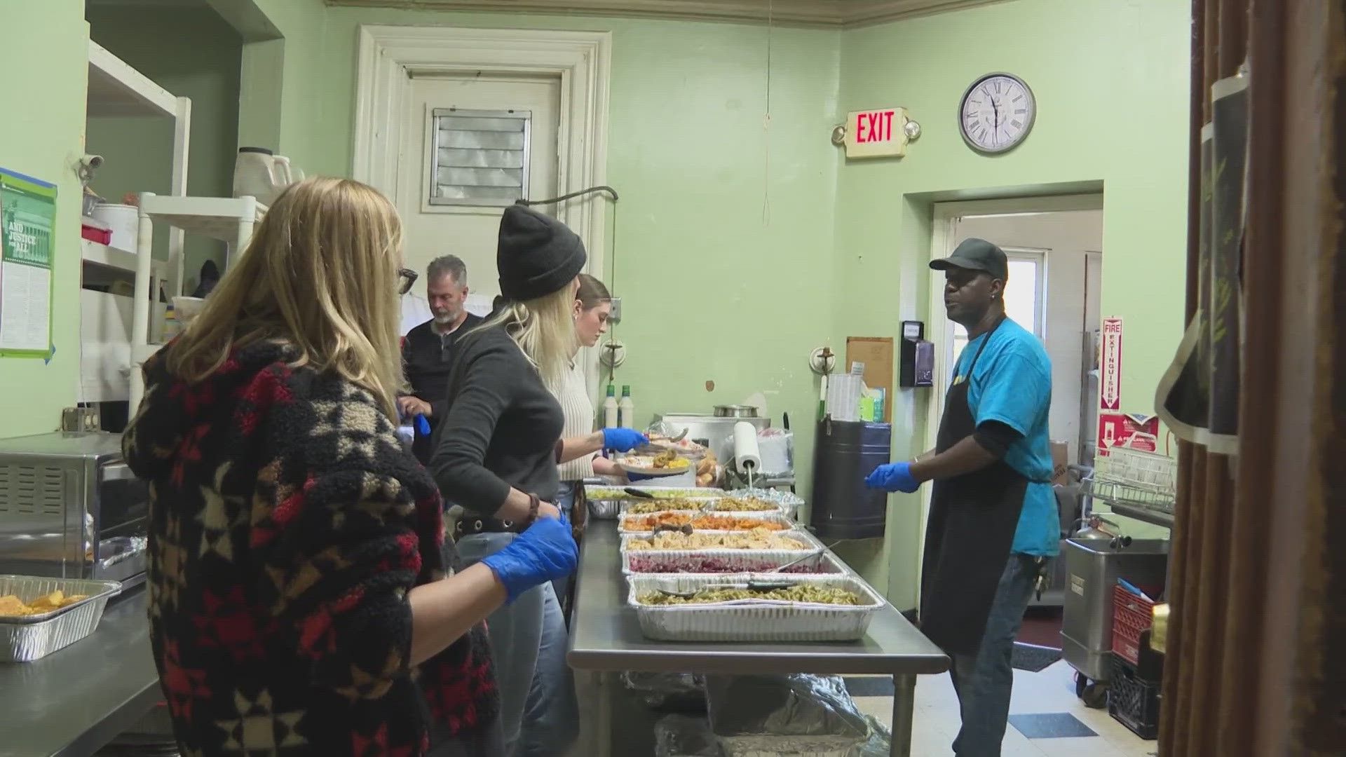
[[[930,241],[930,257],[946,257],[953,252],[960,241],[954,236],[958,220],[968,216],[999,216],[1019,213],[1057,213],[1062,210],[1102,210],[1102,194],[1071,194],[1051,197],[1014,197],[1007,199],[976,199],[969,202],[937,202],[934,203],[934,236]],[[944,392],[948,381],[944,378],[952,370],[949,365],[948,345],[938,343],[949,333],[949,317],[944,310],[944,272],[930,271],[930,298],[926,312],[926,333],[935,341],[934,350],[934,377],[935,387],[931,401],[926,403],[926,435],[921,451],[933,450],[935,436],[940,432],[940,416],[944,414]],[[1046,333],[1046,330],[1043,331]],[[941,385],[944,384],[944,385]],[[925,532],[930,517],[930,486],[921,488],[921,541],[917,550],[917,575],[921,575],[921,564],[925,559]],[[919,582],[917,583],[919,587]],[[918,589],[919,590],[919,589]]]

